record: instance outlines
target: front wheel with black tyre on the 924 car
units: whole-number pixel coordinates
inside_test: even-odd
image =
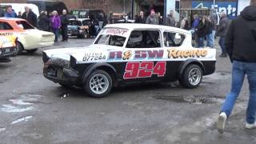
[[[84,90],[91,97],[102,98],[110,93],[112,89],[112,78],[104,70],[94,70],[84,84]]]

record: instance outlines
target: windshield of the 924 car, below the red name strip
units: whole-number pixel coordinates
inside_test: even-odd
[[[122,47],[126,42],[126,38],[118,35],[102,34],[98,37],[94,44],[120,46]]]

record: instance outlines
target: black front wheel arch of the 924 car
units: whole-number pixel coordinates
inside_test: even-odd
[[[84,74],[83,74],[83,83],[86,82],[87,78],[89,75],[94,71],[94,70],[104,70],[106,73],[110,74],[110,77],[112,78],[113,84],[116,82],[116,78],[118,78],[118,73],[114,69],[114,66],[111,66],[109,63],[95,63],[91,66],[89,66]]]

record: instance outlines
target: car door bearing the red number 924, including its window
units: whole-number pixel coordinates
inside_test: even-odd
[[[133,30],[123,53],[126,61],[123,79],[126,82],[160,81],[166,74],[163,56],[161,30]]]

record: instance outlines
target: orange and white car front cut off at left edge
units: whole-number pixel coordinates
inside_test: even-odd
[[[17,37],[0,33],[0,62],[10,62],[10,57],[17,54]]]

